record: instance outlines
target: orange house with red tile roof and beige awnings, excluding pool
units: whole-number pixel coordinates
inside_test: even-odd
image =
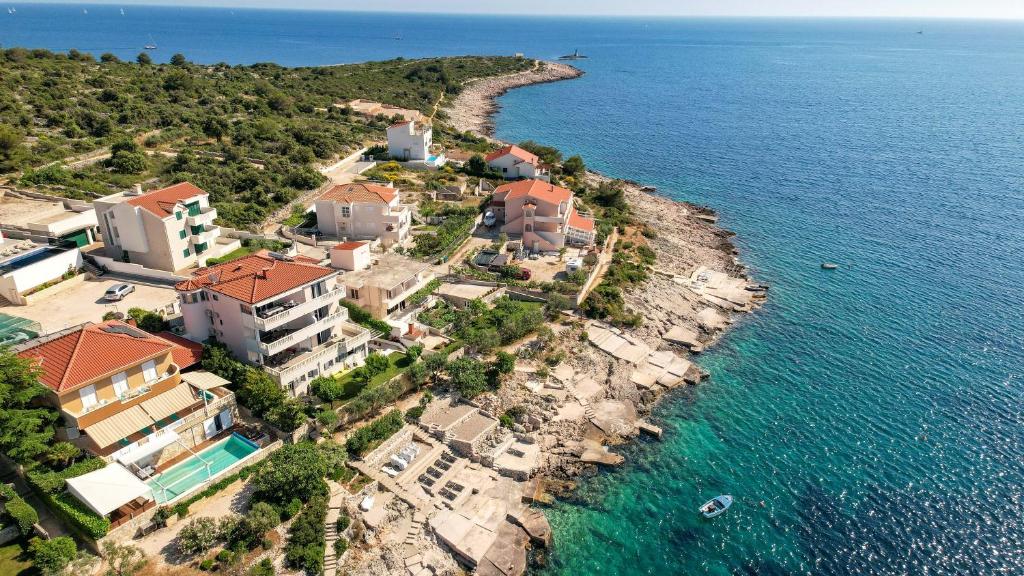
[[[182,377],[198,363],[195,345],[118,320],[85,323],[13,347],[33,361],[80,448],[132,470],[159,466],[230,427],[234,395]]]

